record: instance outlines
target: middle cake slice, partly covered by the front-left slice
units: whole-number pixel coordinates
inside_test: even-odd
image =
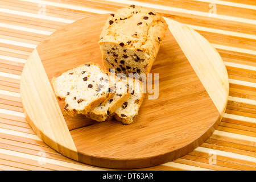
[[[112,114],[115,110],[125,102],[129,96],[129,85],[127,85],[126,78],[123,77],[110,77],[110,80],[115,79],[113,83],[114,96],[110,98],[105,104],[100,104],[93,110],[91,110],[86,117],[92,118],[96,121],[106,121],[112,119]]]

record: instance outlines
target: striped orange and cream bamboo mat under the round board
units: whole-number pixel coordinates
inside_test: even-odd
[[[60,155],[35,135],[20,101],[20,75],[32,50],[75,20],[128,5],[187,24],[220,53],[230,93],[220,126],[189,154],[147,170],[256,170],[256,2],[253,0],[1,0],[0,170],[105,170]]]

